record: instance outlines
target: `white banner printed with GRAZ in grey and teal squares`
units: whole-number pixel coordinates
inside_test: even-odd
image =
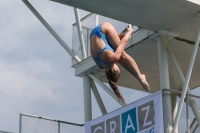
[[[86,122],[85,133],[164,133],[162,91]]]

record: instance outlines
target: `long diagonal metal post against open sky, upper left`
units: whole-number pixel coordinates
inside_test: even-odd
[[[68,52],[68,54],[74,58],[77,62],[80,62],[78,56],[74,55],[69,46],[61,39],[61,37],[51,28],[51,26],[44,20],[44,18],[35,10],[35,8],[27,1],[22,0],[25,5],[32,11],[32,13],[40,20],[40,22],[47,28],[47,30],[55,37],[55,39],[62,45],[62,47]]]

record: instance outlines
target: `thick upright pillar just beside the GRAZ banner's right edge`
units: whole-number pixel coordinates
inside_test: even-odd
[[[166,50],[166,36],[159,34],[157,36],[158,43],[158,59],[160,70],[160,87],[161,89],[169,89],[169,71],[168,60]],[[172,130],[172,111],[171,111],[171,97],[170,92],[163,92],[163,119],[164,119],[164,132],[170,132]]]

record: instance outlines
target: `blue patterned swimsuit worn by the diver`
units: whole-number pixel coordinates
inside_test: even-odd
[[[97,65],[98,65],[99,68],[101,68],[101,69],[104,69],[104,68],[105,68],[105,67],[103,67],[103,66],[111,66],[111,64],[108,64],[108,63],[106,63],[106,62],[104,62],[104,61],[101,61],[101,60],[99,59],[99,55],[100,55],[104,50],[111,50],[112,52],[114,52],[113,48],[111,48],[111,46],[108,44],[108,41],[107,41],[106,36],[105,36],[105,35],[102,33],[102,31],[101,31],[101,25],[98,25],[98,26],[94,27],[94,29],[93,29],[93,30],[91,31],[91,33],[90,33],[90,37],[91,37],[92,35],[97,35],[99,38],[101,38],[101,39],[104,41],[104,43],[105,43],[105,45],[106,45],[103,49],[101,49],[101,50],[97,53],[96,57],[93,58],[93,59],[96,61]],[[102,65],[103,65],[103,66],[102,66]]]

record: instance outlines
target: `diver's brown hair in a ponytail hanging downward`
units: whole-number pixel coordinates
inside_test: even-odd
[[[106,72],[106,76],[107,76],[110,87],[114,91],[114,93],[117,96],[117,98],[119,99],[119,101],[121,101],[122,103],[125,103],[124,98],[122,97],[122,95],[116,85],[116,82],[118,81],[118,79],[120,77],[120,73],[118,71],[113,72],[112,70],[109,70],[108,72]]]

